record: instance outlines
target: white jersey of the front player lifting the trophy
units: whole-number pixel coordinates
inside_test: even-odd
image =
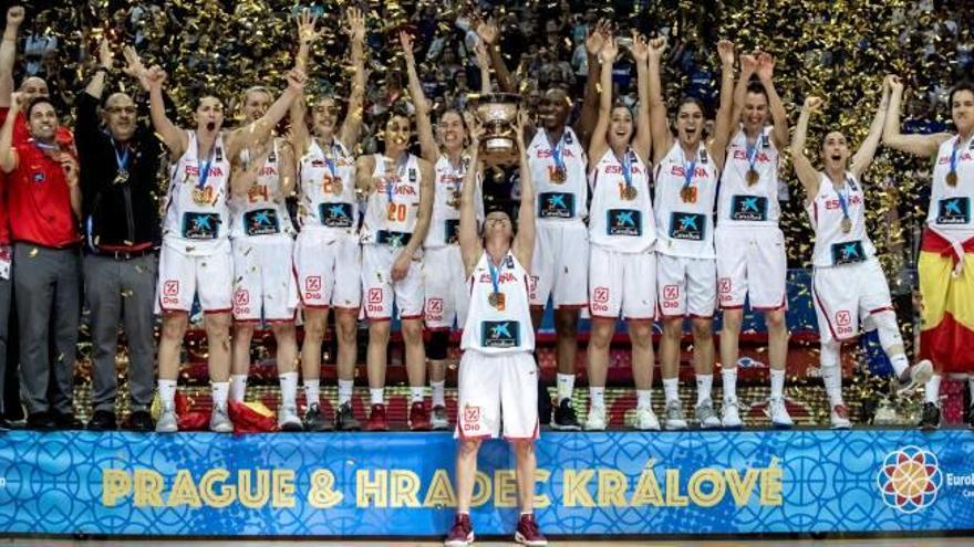
[[[484,251],[467,280],[470,307],[460,349],[484,354],[533,351],[535,329],[531,327],[528,301],[528,272],[510,251],[500,266],[494,269],[494,275],[489,261],[490,255]]]

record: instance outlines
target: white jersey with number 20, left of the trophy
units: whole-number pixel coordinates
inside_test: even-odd
[[[372,176],[383,182],[372,191],[365,202],[365,220],[362,224],[362,243],[405,245],[416,228],[419,212],[419,158],[412,154],[403,155],[395,168],[395,175],[385,178],[385,164],[392,161],[381,154],[375,155],[375,170]]]

